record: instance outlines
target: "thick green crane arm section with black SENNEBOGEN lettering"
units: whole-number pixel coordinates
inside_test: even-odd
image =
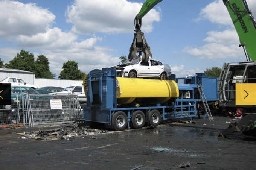
[[[245,56],[256,61],[256,23],[245,0],[223,0],[238,33]]]

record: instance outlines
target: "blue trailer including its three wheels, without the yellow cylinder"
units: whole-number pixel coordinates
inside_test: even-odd
[[[169,78],[174,80],[175,75],[172,74]],[[162,120],[192,119],[197,116],[196,105],[200,100],[194,98],[197,96],[197,89],[197,84],[178,84],[179,97],[171,98],[165,103],[154,103],[155,99],[149,98],[144,103],[119,105],[116,70],[92,70],[87,78],[87,105],[82,106],[83,118],[85,121],[108,124],[116,131],[127,126],[128,129],[141,128],[145,124],[157,126]]]

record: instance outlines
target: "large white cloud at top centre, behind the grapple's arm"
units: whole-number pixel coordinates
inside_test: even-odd
[[[75,0],[66,16],[76,33],[132,33],[141,6],[142,3],[127,0]],[[159,20],[160,12],[151,9],[142,19],[142,31],[151,32],[152,23]]]

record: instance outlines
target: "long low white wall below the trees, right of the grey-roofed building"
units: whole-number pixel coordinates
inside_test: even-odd
[[[81,84],[82,80],[57,80],[57,79],[39,79],[35,78],[35,84],[38,88],[44,86],[57,86],[57,87],[68,87],[72,84]]]

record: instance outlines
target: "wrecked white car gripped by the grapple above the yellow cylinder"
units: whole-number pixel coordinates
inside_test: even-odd
[[[117,69],[117,76],[119,77],[147,77],[165,80],[171,75],[171,66],[156,59],[148,59],[144,62],[141,58],[136,58],[126,64],[111,68]]]

